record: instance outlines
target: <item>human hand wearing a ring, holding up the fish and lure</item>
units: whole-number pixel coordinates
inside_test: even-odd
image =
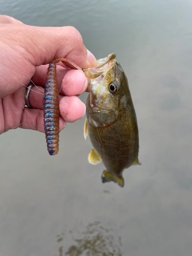
[[[97,61],[73,27],[33,27],[0,15],[0,34],[0,134],[15,127],[45,132],[43,94],[48,63],[62,57],[86,69],[96,66]],[[28,109],[25,92],[31,80],[38,86],[30,92],[33,109]],[[76,95],[86,91],[87,79],[83,71],[66,69],[59,62],[57,82],[62,130],[66,121],[74,122],[86,112],[86,106]]]

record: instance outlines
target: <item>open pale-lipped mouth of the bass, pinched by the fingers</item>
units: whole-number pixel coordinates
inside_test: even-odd
[[[88,77],[88,79],[95,79],[98,76],[102,75],[106,71],[108,71],[110,68],[113,67],[113,65],[116,62],[116,54],[111,53],[108,55],[106,58],[98,59],[97,63],[98,66],[94,68],[89,68],[89,69],[84,69],[83,72],[84,74]]]

